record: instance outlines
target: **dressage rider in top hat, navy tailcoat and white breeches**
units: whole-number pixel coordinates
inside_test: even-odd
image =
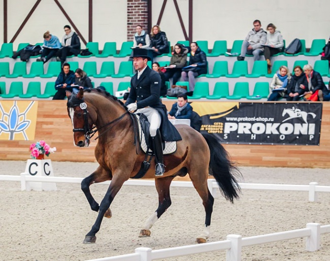
[[[179,141],[181,136],[169,121],[166,106],[160,100],[161,79],[151,70],[147,61],[151,60],[147,49],[133,49],[133,65],[137,73],[130,80],[130,91],[125,105],[129,111],[143,113],[150,122],[150,136],[155,153],[155,176],[162,176],[165,166],[162,153],[163,141]],[[161,134],[159,127],[161,126]]]

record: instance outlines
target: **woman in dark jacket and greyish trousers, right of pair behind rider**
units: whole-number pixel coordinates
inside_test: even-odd
[[[183,81],[189,82],[189,95],[195,87],[195,77],[207,73],[206,54],[201,50],[196,42],[190,44],[191,52],[189,58],[189,68],[183,68],[181,77]]]

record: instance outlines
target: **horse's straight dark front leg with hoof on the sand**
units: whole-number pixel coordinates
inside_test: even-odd
[[[112,179],[110,186],[109,186],[103,200],[101,201],[95,223],[93,224],[92,229],[87,233],[83,243],[85,243],[85,244],[95,243],[95,241],[96,241],[95,234],[100,230],[103,216],[110,209],[110,204],[114,200],[116,194],[118,193],[119,189],[123,185],[124,181],[125,180],[122,177],[120,177],[120,175],[119,175],[119,178]]]

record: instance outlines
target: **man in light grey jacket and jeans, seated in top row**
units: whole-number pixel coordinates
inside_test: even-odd
[[[261,28],[259,20],[254,20],[253,27],[243,41],[241,55],[237,57],[239,61],[243,61],[246,54],[253,54],[254,60],[260,60],[263,52],[262,45],[265,45],[267,41],[267,32]]]

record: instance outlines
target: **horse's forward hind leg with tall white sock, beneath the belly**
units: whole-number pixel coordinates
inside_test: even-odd
[[[159,201],[158,208],[145,222],[142,230],[140,231],[139,237],[149,237],[151,234],[150,229],[153,224],[171,206],[170,185],[173,178],[174,177],[164,177],[155,180]]]

